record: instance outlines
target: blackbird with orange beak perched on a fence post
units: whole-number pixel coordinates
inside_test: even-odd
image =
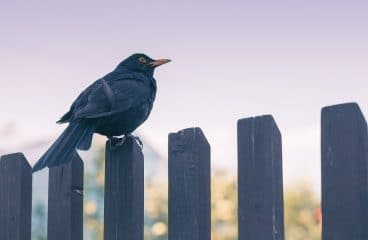
[[[154,69],[168,62],[133,54],[85,89],[58,121],[69,126],[38,160],[33,171],[70,161],[76,149],[88,150],[94,133],[109,139],[131,136],[152,110],[156,96]]]

